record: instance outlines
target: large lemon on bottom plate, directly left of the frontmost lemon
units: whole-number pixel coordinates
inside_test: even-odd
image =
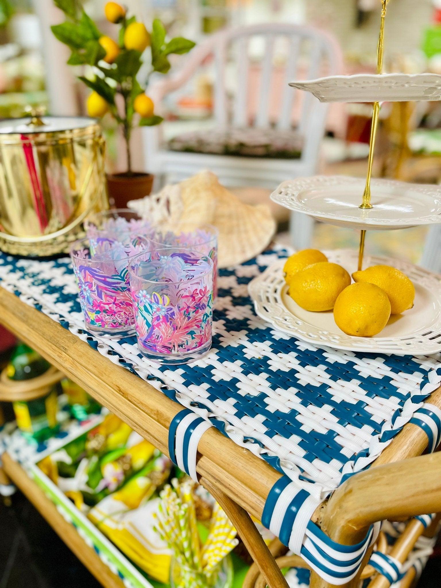
[[[318,262],[291,276],[289,295],[305,310],[332,310],[337,296],[349,284],[349,273],[342,266]]]

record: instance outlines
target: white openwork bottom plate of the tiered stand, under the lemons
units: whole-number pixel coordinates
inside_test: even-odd
[[[349,273],[357,269],[356,251],[337,249],[325,254],[329,261],[339,263]],[[376,337],[352,337],[335,324],[332,310],[308,312],[290,298],[283,279],[284,263],[285,259],[278,260],[248,286],[256,313],[276,329],[320,348],[396,355],[430,355],[441,351],[441,276],[412,263],[365,256],[364,268],[385,263],[409,276],[415,285],[415,303],[402,315],[391,316]]]

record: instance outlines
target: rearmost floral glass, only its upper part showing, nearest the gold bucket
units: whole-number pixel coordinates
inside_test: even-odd
[[[84,228],[92,249],[98,238],[127,242],[131,235],[148,238],[153,233],[151,224],[128,208],[95,213],[85,220]]]

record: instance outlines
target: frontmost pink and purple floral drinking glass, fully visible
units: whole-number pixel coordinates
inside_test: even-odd
[[[138,347],[160,363],[197,359],[211,347],[213,261],[198,251],[156,249],[129,264]]]

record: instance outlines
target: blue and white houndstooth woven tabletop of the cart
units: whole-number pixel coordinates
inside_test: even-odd
[[[40,261],[0,254],[1,285],[41,310],[113,363],[210,418],[316,496],[367,467],[441,383],[441,354],[376,355],[317,349],[255,315],[248,283],[288,252],[277,248],[220,270],[213,347],[184,366],[143,358],[134,336],[83,330],[68,258]]]

